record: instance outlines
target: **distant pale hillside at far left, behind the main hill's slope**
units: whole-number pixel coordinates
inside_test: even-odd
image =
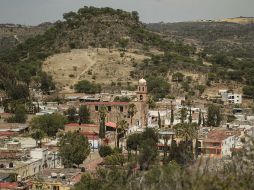
[[[31,37],[43,34],[51,26],[51,23],[43,23],[38,26],[0,24],[0,52],[13,48]]]

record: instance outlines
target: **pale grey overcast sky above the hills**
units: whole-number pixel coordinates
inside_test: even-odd
[[[0,23],[54,22],[85,5],[136,10],[146,23],[254,16],[254,0],[0,0]]]

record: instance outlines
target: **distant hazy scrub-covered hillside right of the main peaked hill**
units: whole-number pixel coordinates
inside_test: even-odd
[[[254,25],[230,22],[155,23],[147,27],[170,39],[195,44],[207,54],[254,58]]]

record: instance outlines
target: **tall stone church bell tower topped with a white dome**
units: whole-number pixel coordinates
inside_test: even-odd
[[[145,79],[140,79],[137,89],[137,110],[139,115],[139,125],[141,128],[147,127],[147,114],[148,114],[148,95],[147,95],[147,83]]]

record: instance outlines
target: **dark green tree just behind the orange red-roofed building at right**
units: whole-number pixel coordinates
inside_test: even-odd
[[[219,127],[222,120],[220,107],[214,104],[208,106],[207,125],[210,127]]]

